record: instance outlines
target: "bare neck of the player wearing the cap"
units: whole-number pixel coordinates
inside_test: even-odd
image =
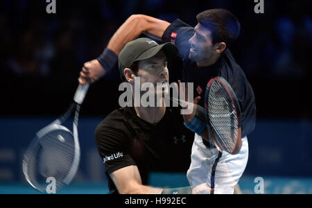
[[[159,105],[156,105],[159,106]],[[162,107],[135,107],[135,112],[140,119],[147,121],[148,123],[158,123],[164,117],[166,113],[166,106],[164,99],[162,99]]]

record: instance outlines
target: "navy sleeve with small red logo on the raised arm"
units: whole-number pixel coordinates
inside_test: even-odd
[[[194,28],[189,26],[189,24],[184,23],[180,19],[173,21],[164,34],[162,35],[162,42],[171,42],[177,46],[179,50],[180,58],[188,57],[189,49],[189,39],[194,35]]]

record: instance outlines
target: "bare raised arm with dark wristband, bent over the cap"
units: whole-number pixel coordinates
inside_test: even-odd
[[[131,15],[114,33],[107,48],[98,59],[85,62],[80,71],[80,84],[92,84],[110,71],[117,62],[117,57],[128,42],[135,40],[141,33],[161,40],[164,31],[170,25],[168,21],[147,15]]]

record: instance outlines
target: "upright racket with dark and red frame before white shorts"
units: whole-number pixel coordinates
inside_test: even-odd
[[[219,151],[241,149],[241,108],[232,87],[222,77],[209,80],[205,92],[205,119],[209,138]]]

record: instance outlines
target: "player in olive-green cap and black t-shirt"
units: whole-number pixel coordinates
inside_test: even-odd
[[[156,89],[152,93],[161,96],[159,100],[155,98],[154,106],[133,106],[133,102],[131,106],[121,107],[96,128],[96,145],[112,193],[162,193],[164,189],[146,185],[149,173],[186,173],[189,168],[193,132],[184,126],[180,109],[166,107],[163,96],[168,94],[167,59],[175,55],[177,49],[173,44],[159,45],[148,38],[129,42],[119,55],[121,76],[133,90],[138,85],[136,82],[141,86],[150,83]],[[164,86],[160,91],[157,83]],[[140,92],[141,96],[145,93]],[[141,96],[137,97],[139,102]],[[177,190],[191,193],[191,187]],[[171,193],[170,189],[165,191]]]

